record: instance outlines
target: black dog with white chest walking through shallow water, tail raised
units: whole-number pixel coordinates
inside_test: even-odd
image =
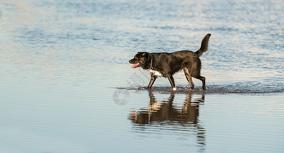
[[[185,77],[193,88],[194,84],[191,77],[202,81],[202,88],[205,90],[205,77],[200,75],[201,61],[200,56],[207,51],[208,41],[211,34],[207,34],[201,47],[196,52],[181,50],[174,53],[147,53],[138,52],[129,63],[134,64],[132,68],[142,67],[150,71],[151,80],[147,88],[151,88],[157,77],[165,77],[171,83],[173,90],[177,90],[173,75],[184,70]]]

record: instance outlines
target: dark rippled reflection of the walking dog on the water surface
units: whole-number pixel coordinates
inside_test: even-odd
[[[149,97],[150,103],[147,108],[130,111],[129,119],[134,123],[133,125],[174,125],[175,129],[173,130],[193,132],[197,137],[197,144],[205,145],[206,131],[198,120],[199,108],[204,105],[204,95],[194,95],[193,97],[191,94],[187,94],[183,104],[180,103],[180,99],[174,101],[174,92],[168,99],[156,100],[153,92],[149,90]],[[178,128],[177,125],[181,128]]]

